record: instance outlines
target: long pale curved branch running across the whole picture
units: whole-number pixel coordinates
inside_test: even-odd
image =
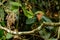
[[[5,30],[5,31],[7,31],[8,33],[11,33],[11,34],[22,35],[22,34],[31,34],[31,33],[34,33],[34,32],[36,32],[36,31],[39,31],[39,30],[41,30],[41,28],[42,28],[43,25],[48,25],[48,26],[60,26],[60,22],[58,22],[58,23],[44,22],[44,23],[42,23],[39,27],[37,27],[36,29],[33,29],[32,31],[25,31],[25,32],[12,31],[12,30],[9,30],[9,29],[7,29],[7,28],[5,28],[5,27],[2,27],[1,25],[0,25],[0,29],[3,29],[3,30]]]

